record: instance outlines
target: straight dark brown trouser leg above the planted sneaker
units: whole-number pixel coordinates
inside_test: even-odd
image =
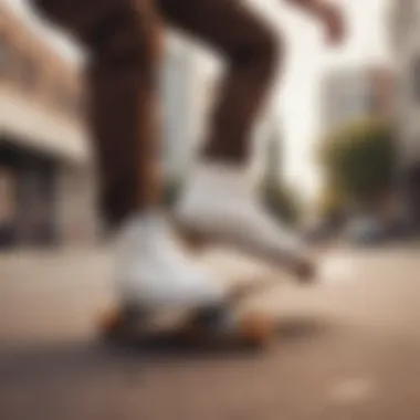
[[[34,0],[90,55],[86,93],[99,201],[115,227],[159,199],[158,23],[154,2]]]

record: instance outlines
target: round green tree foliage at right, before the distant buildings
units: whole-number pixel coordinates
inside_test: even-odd
[[[319,157],[327,185],[346,200],[371,203],[392,185],[397,149],[386,123],[344,126],[323,141]]]

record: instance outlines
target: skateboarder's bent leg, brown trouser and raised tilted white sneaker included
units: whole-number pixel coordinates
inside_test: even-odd
[[[245,0],[158,0],[164,18],[219,52],[228,69],[201,162],[178,216],[197,237],[228,242],[306,276],[302,242],[258,202],[246,180],[250,140],[280,59],[279,35]]]

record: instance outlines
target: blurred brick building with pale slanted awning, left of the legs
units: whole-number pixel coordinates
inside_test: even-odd
[[[2,8],[0,241],[4,246],[94,237],[81,87],[76,66]]]

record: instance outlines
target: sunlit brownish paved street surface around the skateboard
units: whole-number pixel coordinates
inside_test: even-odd
[[[418,420],[420,249],[336,251],[318,285],[219,252],[230,277],[275,275],[255,296],[279,318],[262,353],[111,349],[105,251],[0,255],[1,420]]]

